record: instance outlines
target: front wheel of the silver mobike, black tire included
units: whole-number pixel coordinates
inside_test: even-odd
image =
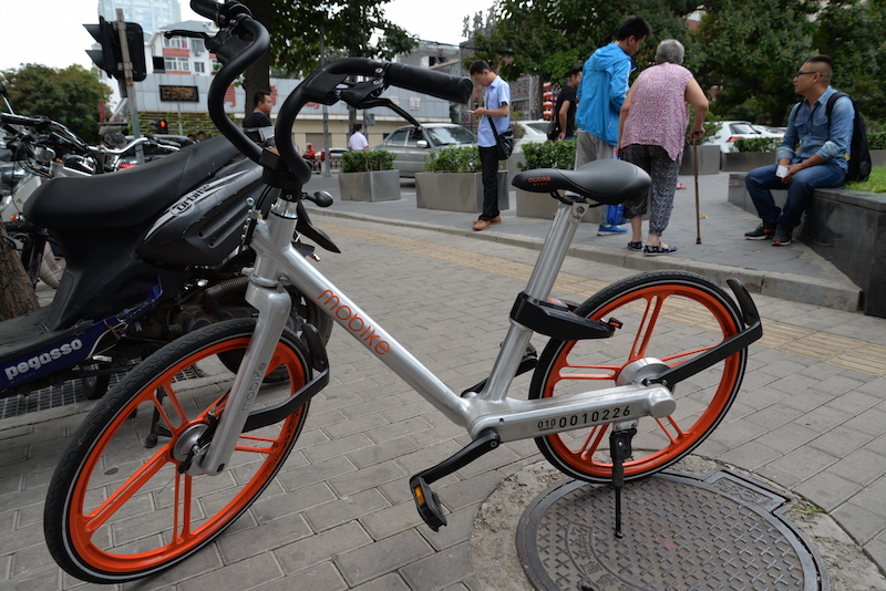
[[[218,476],[192,477],[183,457],[195,434],[224,413],[235,374],[219,356],[241,355],[254,330],[254,320],[233,320],[189,333],[99,402],[47,495],[47,545],[65,571],[119,583],[172,567],[214,540],[268,486],[301,432],[307,405],[241,434]],[[278,404],[306,384],[307,359],[301,341],[285,331],[267,372],[287,379],[266,382],[255,407]]]

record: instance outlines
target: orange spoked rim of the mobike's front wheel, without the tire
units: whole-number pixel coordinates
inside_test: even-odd
[[[230,525],[264,490],[299,434],[303,408],[277,425],[241,434],[236,465],[233,457],[219,476],[190,476],[173,455],[183,434],[224,411],[229,386],[195,391],[181,375],[214,355],[244,350],[248,342],[227,340],[168,367],[102,432],[73,485],[68,512],[69,541],[83,561],[109,573],[168,564]],[[289,379],[276,385],[274,395],[285,398],[306,376],[298,354],[284,344],[278,344],[267,373],[280,369]],[[158,415],[164,428],[156,447],[147,449],[152,415]]]

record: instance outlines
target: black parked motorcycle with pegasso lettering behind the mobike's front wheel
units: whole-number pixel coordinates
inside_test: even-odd
[[[12,117],[38,131],[51,123]],[[176,336],[256,314],[244,300],[240,270],[254,256],[241,235],[248,212],[267,209],[272,191],[261,167],[224,137],[143,166],[40,186],[24,218],[45,229],[66,267],[50,304],[0,323],[0,397],[81,379],[96,398],[114,373]],[[324,238],[307,217],[299,234]],[[316,258],[312,246],[293,241]],[[291,328],[310,322],[328,339],[329,318],[287,289]]]

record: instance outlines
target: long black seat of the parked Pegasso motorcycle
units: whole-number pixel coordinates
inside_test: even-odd
[[[127,228],[159,215],[228,164],[239,151],[224,137],[111,174],[55,177],[24,204],[43,228]]]

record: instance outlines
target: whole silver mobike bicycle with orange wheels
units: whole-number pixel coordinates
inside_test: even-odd
[[[650,180],[641,169],[607,160],[517,175],[516,186],[550,193],[559,209],[488,379],[455,393],[292,248],[293,231],[334,245],[307,218],[301,187],[310,168],[290,129],[310,101],[381,106],[381,92],[396,85],[466,102],[470,81],[363,59],[333,62],[284,103],[278,156],[249,143],[222,110],[224,90],[265,51],[267,32],[238,4],[193,6],[219,23],[207,45],[227,61],[209,92],[210,114],[265,165],[266,182],[284,189],[268,218],[253,215],[245,232],[257,253],[247,300],[259,314],[169,343],[100,401],[49,487],[47,542],[64,570],[103,583],[159,572],[210,543],[271,484],[330,372],[310,324],[300,334],[284,328],[287,282],[471,435],[464,449],[410,479],[416,508],[434,530],[446,518],[431,485],[502,443],[535,438],[567,475],[618,490],[684,457],[722,421],[741,385],[748,345],[762,334],[741,283],[729,281],[738,304],[711,281],[680,271],[638,274],[580,305],[549,297],[588,200],[615,204],[643,190]],[[238,43],[219,44],[219,38]],[[351,74],[365,80],[346,83]],[[562,196],[564,189],[578,197]],[[331,203],[322,194],[310,198]],[[540,357],[529,345],[534,332],[550,338]],[[229,367],[240,357],[235,374]],[[514,377],[533,369],[528,400],[509,397]]]

